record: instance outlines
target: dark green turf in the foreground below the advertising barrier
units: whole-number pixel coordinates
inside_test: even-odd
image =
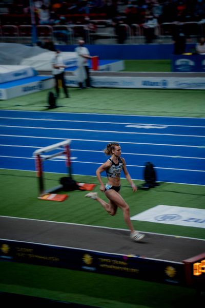
[[[39,265],[0,262],[0,290],[101,308],[192,308],[194,289]],[[203,297],[201,299],[201,304]]]

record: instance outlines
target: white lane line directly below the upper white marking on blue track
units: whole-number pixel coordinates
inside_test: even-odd
[[[113,130],[97,130],[97,129],[77,129],[77,128],[57,128],[57,127],[33,127],[33,126],[15,126],[15,125],[0,125],[0,127],[10,128],[27,128],[27,129],[45,129],[45,130],[66,130],[66,131],[89,131],[89,132],[106,132],[106,133],[125,133],[125,134],[146,134],[146,135],[157,135],[157,136],[178,136],[178,137],[197,137],[205,138],[205,136],[198,135],[186,135],[186,134],[174,134],[174,133],[150,133],[150,132],[135,132],[135,131],[113,131]]]

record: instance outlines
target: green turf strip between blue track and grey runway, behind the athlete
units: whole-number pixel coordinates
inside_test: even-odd
[[[38,182],[35,172],[18,170],[0,170],[2,179],[2,194],[0,196],[0,214],[23,218],[61,221],[88,225],[99,225],[114,228],[125,228],[122,212],[118,210],[115,217],[111,217],[98,203],[85,198],[85,191],[75,190],[66,192],[68,199],[64,202],[39,200]],[[65,175],[45,173],[46,188],[59,184],[60,177]],[[77,182],[94,183],[93,191],[99,192],[104,200],[105,195],[99,191],[96,177],[73,176]],[[135,181],[137,185],[140,181]],[[11,188],[12,187],[12,188]],[[65,194],[64,191],[61,194]],[[156,205],[173,205],[182,207],[204,208],[204,186],[160,183],[150,190],[138,190],[135,194],[127,180],[122,179],[122,197],[130,205],[130,214],[141,213]],[[203,228],[157,224],[144,221],[133,221],[136,229],[145,232],[156,232],[176,236],[205,238]]]

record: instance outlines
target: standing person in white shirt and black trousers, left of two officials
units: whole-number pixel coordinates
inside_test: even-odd
[[[65,97],[69,98],[68,90],[66,87],[64,70],[67,67],[63,62],[63,57],[60,55],[60,50],[55,51],[55,56],[52,60],[53,75],[55,78],[55,90],[57,98],[59,98],[59,88],[62,87]]]

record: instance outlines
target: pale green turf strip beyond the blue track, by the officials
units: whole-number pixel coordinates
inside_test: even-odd
[[[205,90],[70,88],[69,99],[48,109],[50,90],[1,101],[0,109],[205,117]]]

